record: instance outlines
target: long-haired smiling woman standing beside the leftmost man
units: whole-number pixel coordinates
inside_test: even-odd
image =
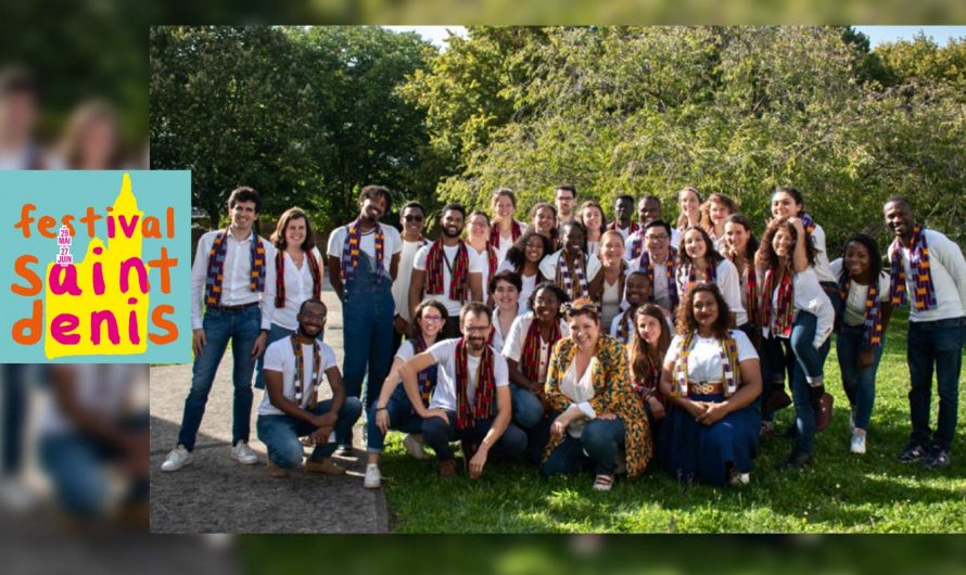
[[[268,332],[266,349],[272,342],[289,337],[298,329],[298,308],[309,298],[321,297],[325,266],[322,255],[315,245],[312,222],[297,207],[287,209],[278,220],[275,232],[269,238],[277,252],[275,261],[276,295],[275,311],[271,315],[271,329]],[[325,332],[319,332],[322,340]],[[265,388],[265,355],[258,358],[255,368],[255,387]]]

